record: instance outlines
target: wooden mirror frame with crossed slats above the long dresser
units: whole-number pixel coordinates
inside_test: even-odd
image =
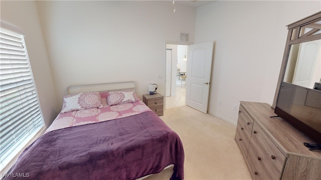
[[[321,29],[321,24],[315,23],[319,20],[321,20],[321,11],[316,12],[312,15],[309,15],[305,18],[302,18],[298,21],[295,21],[295,22],[287,25],[288,33],[287,33],[285,49],[284,49],[284,53],[283,53],[280,74],[279,74],[279,78],[277,81],[274,100],[273,100],[273,104],[272,104],[273,109],[275,109],[277,97],[278,97],[278,94],[280,91],[281,82],[284,79],[287,60],[289,57],[291,45],[301,43],[301,42],[307,42],[307,41],[321,39],[321,33],[313,34],[314,32]],[[306,33],[303,33],[303,32],[301,32],[302,27],[308,27],[308,28],[312,28],[312,29]]]

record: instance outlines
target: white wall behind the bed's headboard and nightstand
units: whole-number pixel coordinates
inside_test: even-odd
[[[37,1],[58,98],[70,84],[135,80],[165,93],[166,41],[193,42],[196,9],[172,1]]]

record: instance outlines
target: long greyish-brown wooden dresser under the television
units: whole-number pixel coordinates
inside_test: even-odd
[[[235,141],[253,179],[321,179],[321,151],[267,103],[241,101]]]

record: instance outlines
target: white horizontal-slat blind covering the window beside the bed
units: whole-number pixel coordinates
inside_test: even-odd
[[[0,30],[0,168],[44,126],[24,36]]]

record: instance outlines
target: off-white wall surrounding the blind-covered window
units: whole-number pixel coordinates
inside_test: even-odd
[[[1,1],[1,21],[25,35],[40,105],[46,125],[60,111],[35,1]]]

